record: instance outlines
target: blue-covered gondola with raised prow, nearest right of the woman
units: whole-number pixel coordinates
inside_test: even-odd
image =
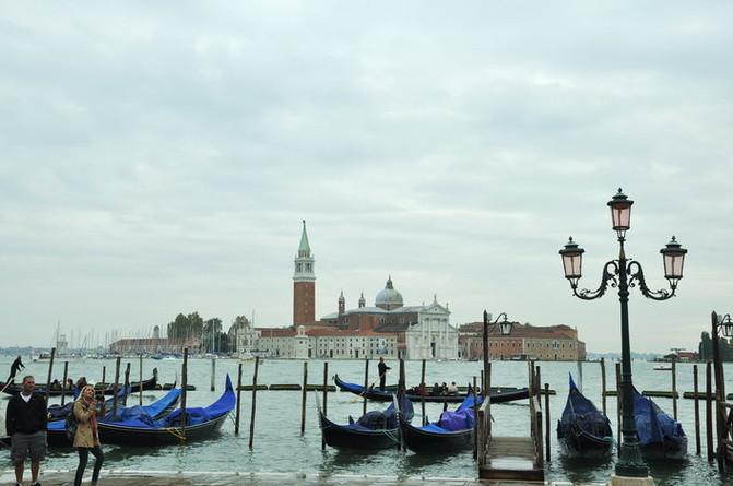
[[[103,443],[141,447],[209,439],[222,428],[229,412],[234,410],[236,400],[232,380],[227,375],[226,390],[216,402],[205,407],[186,408],[185,428],[181,428],[181,410],[177,408],[158,420],[141,416],[121,422],[102,422],[99,439]]]

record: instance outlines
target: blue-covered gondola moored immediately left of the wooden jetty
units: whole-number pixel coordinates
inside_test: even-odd
[[[476,403],[481,404],[481,395]],[[400,414],[404,444],[423,454],[449,454],[473,447],[473,395],[466,396],[454,412],[445,411],[440,419],[422,427],[410,425]]]

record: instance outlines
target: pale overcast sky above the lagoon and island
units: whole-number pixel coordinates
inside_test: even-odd
[[[629,301],[634,352],[733,312],[733,4],[11,2],[0,7],[0,347],[102,342],[179,312],[292,323],[302,221],[316,312],[388,275],[451,323],[495,316],[620,349],[606,202],[677,296]],[[612,289],[613,291],[613,289]]]

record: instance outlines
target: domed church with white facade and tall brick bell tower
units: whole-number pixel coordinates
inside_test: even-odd
[[[293,325],[259,328],[255,345],[273,357],[457,359],[458,330],[450,324],[448,305],[434,296],[430,304],[405,306],[391,275],[367,306],[346,309],[343,292],[338,309],[316,320],[315,258],[303,222],[293,274]]]

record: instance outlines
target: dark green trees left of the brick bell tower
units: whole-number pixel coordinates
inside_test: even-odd
[[[234,353],[237,351],[236,331],[248,324],[245,316],[237,316],[224,332],[222,319],[217,317],[204,320],[199,312],[181,312],[168,322],[166,335],[168,339],[199,339],[204,353]]]

